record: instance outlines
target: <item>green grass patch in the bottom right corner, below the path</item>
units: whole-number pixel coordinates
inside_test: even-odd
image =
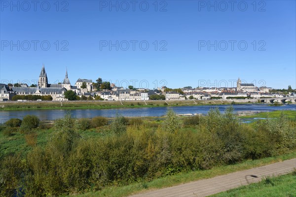
[[[296,197],[296,171],[278,177],[266,177],[259,183],[228,190],[212,197]]]

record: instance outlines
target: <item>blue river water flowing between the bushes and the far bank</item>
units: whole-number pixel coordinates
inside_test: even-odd
[[[218,107],[221,112],[228,105],[197,105],[197,106],[176,106],[171,107],[177,114],[207,114],[211,108]],[[145,117],[145,116],[163,116],[169,107],[142,107],[142,108],[116,108],[116,109],[74,109],[70,110],[75,118],[92,118],[95,116],[114,117],[116,113],[125,117]],[[268,112],[275,110],[295,110],[295,104],[285,104],[281,106],[269,106],[268,104],[235,104],[234,113],[250,114],[259,112]],[[10,118],[22,119],[26,115],[36,115],[40,120],[55,120],[62,118],[66,109],[37,109],[37,110],[12,110],[0,111],[0,122],[4,123]]]

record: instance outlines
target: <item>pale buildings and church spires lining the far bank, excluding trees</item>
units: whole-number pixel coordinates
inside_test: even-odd
[[[82,88],[82,85],[84,86]],[[184,88],[184,94],[175,91],[165,91],[166,87],[155,90],[129,90],[122,87],[116,87],[111,84],[111,90],[97,91],[93,88],[93,81],[89,79],[78,79],[74,86],[71,85],[68,71],[66,70],[65,79],[62,83],[48,83],[47,74],[44,65],[39,74],[37,87],[28,87],[27,84],[21,84],[21,87],[13,87],[5,84],[0,85],[0,100],[11,100],[14,95],[39,95],[51,96],[53,100],[63,101],[65,92],[72,90],[77,96],[95,98],[100,96],[104,100],[148,100],[152,95],[162,96],[161,99],[166,100],[185,100],[193,99],[227,99],[227,98],[268,98],[268,97],[284,97],[279,94],[270,94],[267,87],[256,87],[254,84],[241,83],[238,78],[237,87],[235,88]],[[152,97],[151,97],[152,99]],[[155,99],[155,97],[153,98]]]

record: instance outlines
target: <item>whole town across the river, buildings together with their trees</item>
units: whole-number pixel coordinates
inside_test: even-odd
[[[291,92],[287,94],[273,91],[272,88],[256,87],[253,83],[242,83],[238,78],[236,87],[185,87],[170,89],[161,87],[153,90],[116,87],[110,82],[98,79],[97,83],[91,79],[77,79],[71,85],[66,70],[62,83],[49,84],[45,66],[41,68],[38,84],[0,84],[0,101],[5,100],[185,100],[185,99],[260,99],[260,98],[289,98],[295,97]],[[294,100],[293,100],[294,101]]]

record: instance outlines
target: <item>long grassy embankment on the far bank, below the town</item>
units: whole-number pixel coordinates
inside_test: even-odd
[[[135,100],[135,101],[102,101],[102,100],[75,100],[75,101],[1,101],[0,110],[30,110],[30,109],[112,109],[112,108],[139,108],[139,107],[167,107],[167,106],[194,106],[220,104],[247,104],[256,100]]]

